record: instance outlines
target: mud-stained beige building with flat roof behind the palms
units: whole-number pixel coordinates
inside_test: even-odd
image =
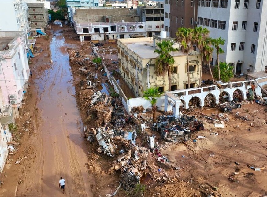
[[[154,53],[155,44],[163,39],[170,40],[171,38],[154,36],[117,40],[119,72],[137,97],[142,97],[143,91],[147,90],[148,87],[159,87],[162,92],[169,90],[168,74],[159,76],[155,74],[155,62],[158,56]],[[178,43],[174,47],[178,48]],[[171,76],[172,90],[188,88],[186,54],[179,50],[171,53],[171,55],[175,60],[174,71]],[[199,53],[191,51],[188,60],[190,88],[193,88],[199,83]]]

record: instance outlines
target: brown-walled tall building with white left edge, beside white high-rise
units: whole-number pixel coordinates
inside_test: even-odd
[[[164,25],[167,35],[174,38],[179,27],[195,28],[197,3],[197,0],[165,0]]]

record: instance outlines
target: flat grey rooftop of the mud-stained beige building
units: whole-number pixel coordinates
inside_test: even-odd
[[[118,39],[125,44],[131,51],[135,52],[143,59],[157,58],[158,54],[154,53],[155,47],[153,46],[153,38],[129,38],[129,39]],[[124,42],[125,40],[125,42]],[[139,41],[138,41],[139,40]],[[145,41],[147,40],[147,41]],[[132,41],[132,42],[130,42]],[[185,56],[186,54],[182,51],[176,51],[170,53],[173,57]],[[192,55],[192,54],[191,54]]]

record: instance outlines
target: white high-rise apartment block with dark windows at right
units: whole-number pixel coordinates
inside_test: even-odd
[[[199,0],[198,26],[210,30],[210,37],[226,40],[219,56],[232,63],[234,73],[263,71],[267,67],[266,0]],[[214,50],[213,65],[217,55]]]

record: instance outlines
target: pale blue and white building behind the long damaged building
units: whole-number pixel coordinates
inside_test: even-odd
[[[70,9],[71,7],[98,7],[99,0],[66,0],[67,7],[68,7],[68,16],[70,20]]]

